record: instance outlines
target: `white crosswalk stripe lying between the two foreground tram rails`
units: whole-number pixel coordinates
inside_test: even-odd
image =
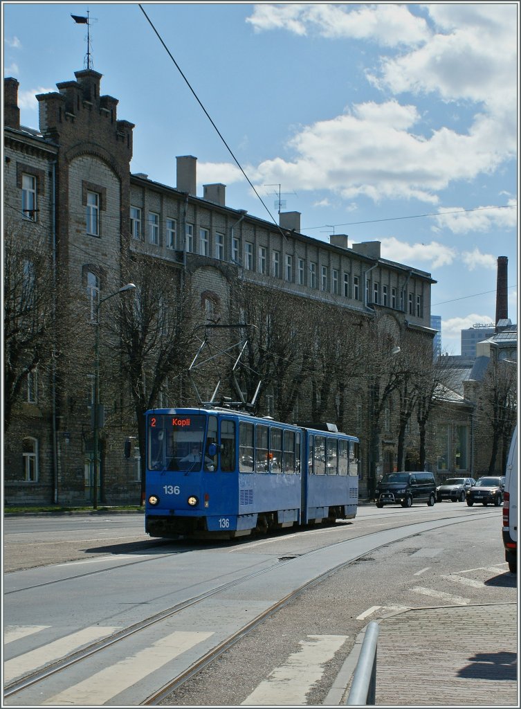
[[[135,655],[105,667],[55,696],[43,705],[100,706],[125,689],[168,664],[174,657],[203,642],[213,632],[172,632]]]

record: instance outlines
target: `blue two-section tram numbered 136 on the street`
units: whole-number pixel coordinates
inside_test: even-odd
[[[152,537],[233,538],[357,513],[357,437],[219,408],[147,411],[146,427]]]

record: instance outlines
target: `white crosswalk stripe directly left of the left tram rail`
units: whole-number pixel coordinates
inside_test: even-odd
[[[63,659],[80,647],[84,647],[84,645],[96,640],[101,640],[102,637],[107,637],[116,632],[116,630],[121,629],[112,626],[101,627],[99,625],[86,627],[84,630],[73,632],[72,635],[61,637],[60,640],[54,640],[23,655],[13,657],[13,659],[4,662],[4,681],[6,683],[11,682],[16,677],[21,677],[28,672],[40,669],[40,667],[44,667],[52,661]]]

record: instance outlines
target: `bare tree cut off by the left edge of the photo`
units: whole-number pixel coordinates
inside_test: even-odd
[[[43,235],[4,225],[4,426],[30,373],[53,354],[55,284]]]

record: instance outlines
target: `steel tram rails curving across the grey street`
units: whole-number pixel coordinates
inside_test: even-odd
[[[381,515],[378,515],[378,517],[380,518]],[[474,515],[465,515],[465,518],[471,519],[474,518]],[[376,516],[373,519],[376,520]],[[397,522],[398,520],[395,521]],[[432,523],[437,523],[438,525],[449,525],[460,523],[461,521],[464,521],[461,516],[458,515],[455,518],[454,515],[450,515],[446,518],[442,518],[441,520],[439,518],[437,518],[437,520],[432,520]],[[407,525],[403,525],[402,522],[402,524],[396,526],[400,527],[401,529],[404,527],[406,528],[415,525],[418,525],[418,520],[410,520]],[[332,529],[332,527],[329,527],[329,529]],[[318,530],[309,530],[310,533],[316,531]],[[338,547],[339,545],[342,545],[347,541],[357,540],[360,537],[364,537],[366,536],[366,532],[367,530],[365,530],[365,533],[363,530],[361,530],[359,535],[353,535],[349,540],[335,540],[329,545],[320,547],[320,553],[327,553],[328,551],[331,551],[333,547]],[[415,533],[417,532],[410,530],[410,535],[414,535]],[[304,534],[306,534],[306,532],[304,532]],[[370,532],[370,536],[375,534],[378,534],[378,532]],[[298,532],[298,535],[301,535],[301,532]],[[284,539],[284,536],[279,538]],[[405,534],[403,536],[408,535]],[[385,546],[386,543],[377,545],[374,548]],[[247,545],[244,546],[246,551]],[[192,608],[198,604],[203,604],[205,601],[208,601],[209,599],[218,596],[218,594],[220,593],[225,594],[226,591],[230,591],[230,589],[234,587],[240,586],[242,584],[246,585],[248,581],[252,581],[260,576],[270,574],[270,572],[273,571],[275,568],[280,569],[281,566],[292,564],[293,562],[295,562],[296,559],[303,559],[312,554],[315,554],[318,551],[318,549],[312,549],[308,552],[305,552],[304,554],[288,554],[285,557],[279,557],[278,563],[269,566],[268,568],[257,569],[257,571],[254,571],[252,573],[242,574],[241,576],[235,579],[226,581],[223,584],[216,585],[215,588],[211,588],[208,591],[203,591],[202,593],[198,593],[194,596],[191,596],[190,598],[186,598],[184,601],[169,606],[169,608],[166,608],[159,613],[150,615],[148,618],[144,618],[138,623],[134,623],[133,625],[129,625],[128,627],[118,630],[117,632],[113,632],[111,635],[108,635],[108,637],[104,637],[98,642],[93,642],[87,647],[83,647],[79,651],[70,654],[66,658],[55,661],[51,664],[48,664],[47,666],[40,667],[36,671],[27,673],[19,677],[15,681],[12,681],[8,685],[6,685],[4,690],[4,697],[6,699],[16,699],[16,696],[22,693],[24,690],[30,687],[43,685],[43,683],[45,683],[47,679],[58,676],[60,673],[65,675],[67,673],[67,670],[72,668],[72,666],[77,666],[81,664],[82,661],[86,661],[87,659],[92,658],[96,655],[101,655],[103,651],[116,647],[118,643],[122,643],[124,640],[128,639],[133,635],[137,635],[138,633],[147,630],[154,625],[164,623],[165,621],[174,618],[175,615],[181,614],[183,611],[188,610],[189,608]],[[170,556],[170,554],[162,554],[160,557],[155,556],[154,559],[157,561],[167,556]],[[362,556],[362,554],[359,554],[359,556]],[[210,664],[212,661],[214,661],[215,659],[220,657],[220,655],[226,652],[226,650],[228,650],[230,647],[233,647],[234,644],[242,640],[243,637],[245,637],[248,633],[254,630],[254,628],[256,628],[264,620],[269,618],[270,615],[276,613],[277,610],[283,608],[284,605],[286,605],[287,603],[291,603],[291,601],[293,601],[293,599],[295,599],[303,591],[306,591],[308,588],[311,588],[315,584],[319,584],[320,581],[323,581],[323,579],[325,579],[327,576],[330,576],[331,574],[334,574],[336,571],[344,568],[345,566],[352,564],[357,560],[357,558],[359,558],[359,556],[349,557],[341,563],[328,566],[327,569],[322,571],[320,574],[315,574],[312,578],[306,580],[301,584],[298,584],[296,588],[293,588],[289,593],[286,593],[278,601],[276,601],[276,603],[271,603],[267,608],[262,610],[261,613],[257,613],[256,615],[254,615],[254,617],[251,618],[247,623],[244,623],[243,625],[235,629],[233,632],[230,632],[227,637],[224,637],[222,640],[220,640],[220,642],[217,642],[217,644],[215,644],[215,647],[211,647],[211,649],[209,649],[207,652],[204,652],[201,657],[189,664],[189,666],[186,666],[184,669],[182,669],[182,671],[179,671],[177,674],[175,674],[172,679],[169,679],[169,681],[164,683],[159,689],[157,689],[157,691],[150,693],[146,698],[141,698],[139,704],[153,705],[155,703],[159,703],[162,699],[166,698],[169,693],[172,693],[183,683],[193,678],[196,674],[198,674],[199,671],[201,671],[203,668],[208,666],[208,664]],[[131,566],[133,564],[143,563],[147,561],[147,559],[142,559],[140,560],[140,562],[130,562],[126,565]],[[117,567],[111,566],[111,569],[104,569],[104,571],[114,570],[115,568]],[[96,571],[89,573],[94,574],[96,573]],[[79,575],[75,576],[74,578],[79,578]],[[220,576],[220,578],[222,579],[222,575]],[[71,581],[72,577],[63,580]],[[215,579],[206,579],[206,583],[211,582],[213,580]]]

